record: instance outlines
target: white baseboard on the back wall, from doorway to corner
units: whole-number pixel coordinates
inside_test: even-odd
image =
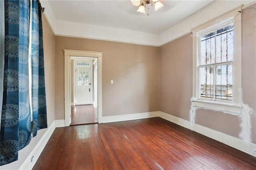
[[[118,115],[118,116],[105,116],[105,117],[102,117],[102,123],[130,121],[130,120],[136,120],[136,119],[146,119],[150,117],[158,117],[158,111],[146,112],[146,113],[135,113],[135,114],[128,114],[128,115]]]

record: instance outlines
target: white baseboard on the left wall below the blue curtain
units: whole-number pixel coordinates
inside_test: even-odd
[[[32,152],[28,155],[26,160],[23,162],[23,164],[20,166],[19,170],[32,170],[33,166],[36,164],[36,161],[38,160],[41,152],[44,149],[44,146],[50,139],[50,136],[52,135],[53,131],[55,129],[55,122],[53,121],[50,127],[46,130],[42,138],[39,140],[39,142],[36,144]],[[33,157],[34,156],[34,157]],[[33,161],[31,162],[31,158],[33,157]]]

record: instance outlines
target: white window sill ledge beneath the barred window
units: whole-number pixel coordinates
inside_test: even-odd
[[[226,103],[217,103],[212,101],[203,101],[198,99],[191,99],[192,106],[203,107],[208,109],[214,109],[219,111],[227,111],[233,113],[242,113],[242,106],[226,104]]]

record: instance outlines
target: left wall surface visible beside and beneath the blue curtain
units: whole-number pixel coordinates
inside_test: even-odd
[[[52,124],[55,119],[54,108],[54,53],[55,53],[55,36],[44,16],[42,14],[43,22],[43,40],[44,40],[44,73],[45,73],[45,88],[46,88],[46,107],[47,107],[47,122],[48,127]],[[28,146],[19,150],[18,160],[10,164],[1,166],[1,170],[17,170],[20,168],[24,160],[28,157],[30,152],[34,149],[36,144],[42,138],[47,128],[38,130],[36,137],[32,138]]]

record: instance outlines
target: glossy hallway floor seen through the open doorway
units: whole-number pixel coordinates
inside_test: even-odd
[[[93,105],[76,105],[71,107],[71,125],[98,123],[98,111]]]

